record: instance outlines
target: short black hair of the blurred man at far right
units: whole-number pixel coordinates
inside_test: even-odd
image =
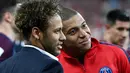
[[[121,9],[114,9],[108,12],[107,16],[107,22],[110,25],[114,25],[116,20],[119,21],[130,21],[130,16],[125,10]]]

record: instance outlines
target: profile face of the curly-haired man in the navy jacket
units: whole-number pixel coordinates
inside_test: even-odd
[[[43,34],[43,44],[45,50],[53,55],[58,55],[62,48],[63,41],[66,39],[62,32],[62,21],[58,14],[49,20],[46,34]]]

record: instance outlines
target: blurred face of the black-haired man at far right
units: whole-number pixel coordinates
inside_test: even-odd
[[[117,44],[120,46],[124,45],[124,42],[129,37],[129,30],[130,30],[130,22],[122,22],[116,21],[115,25],[112,26],[108,31],[110,37],[110,41],[113,44]]]

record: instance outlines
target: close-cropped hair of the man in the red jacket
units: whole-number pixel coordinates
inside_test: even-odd
[[[77,11],[64,7],[62,5],[59,5],[59,9],[62,21],[66,21],[77,14]]]

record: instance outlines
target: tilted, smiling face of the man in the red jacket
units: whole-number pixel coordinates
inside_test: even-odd
[[[79,13],[63,22],[63,33],[66,36],[64,46],[67,48],[73,48],[73,51],[78,52],[85,52],[91,48],[90,29]]]

